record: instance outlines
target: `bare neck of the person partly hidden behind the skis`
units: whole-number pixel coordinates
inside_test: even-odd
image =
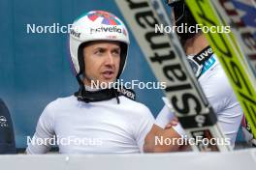
[[[196,55],[208,45],[207,38],[201,33],[187,40],[184,43],[184,49],[187,55]]]

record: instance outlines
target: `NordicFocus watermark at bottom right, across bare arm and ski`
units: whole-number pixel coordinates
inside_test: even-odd
[[[203,136],[196,136],[195,138],[188,138],[186,135],[179,138],[164,138],[163,136],[155,136],[155,145],[231,145],[230,138],[204,138]]]

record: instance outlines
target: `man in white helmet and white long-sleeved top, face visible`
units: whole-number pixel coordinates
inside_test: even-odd
[[[70,53],[80,90],[48,104],[27,154],[45,154],[53,141],[61,154],[143,152],[144,137],[154,121],[149,109],[133,100],[132,91],[92,86],[93,81],[112,83],[119,78],[128,45],[128,31],[113,14],[92,11],[75,20]]]

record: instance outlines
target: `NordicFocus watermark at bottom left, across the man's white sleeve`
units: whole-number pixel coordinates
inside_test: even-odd
[[[103,144],[101,138],[78,138],[76,136],[59,137],[53,136],[51,138],[31,138],[27,136],[27,145],[77,145],[77,146],[100,146]]]

